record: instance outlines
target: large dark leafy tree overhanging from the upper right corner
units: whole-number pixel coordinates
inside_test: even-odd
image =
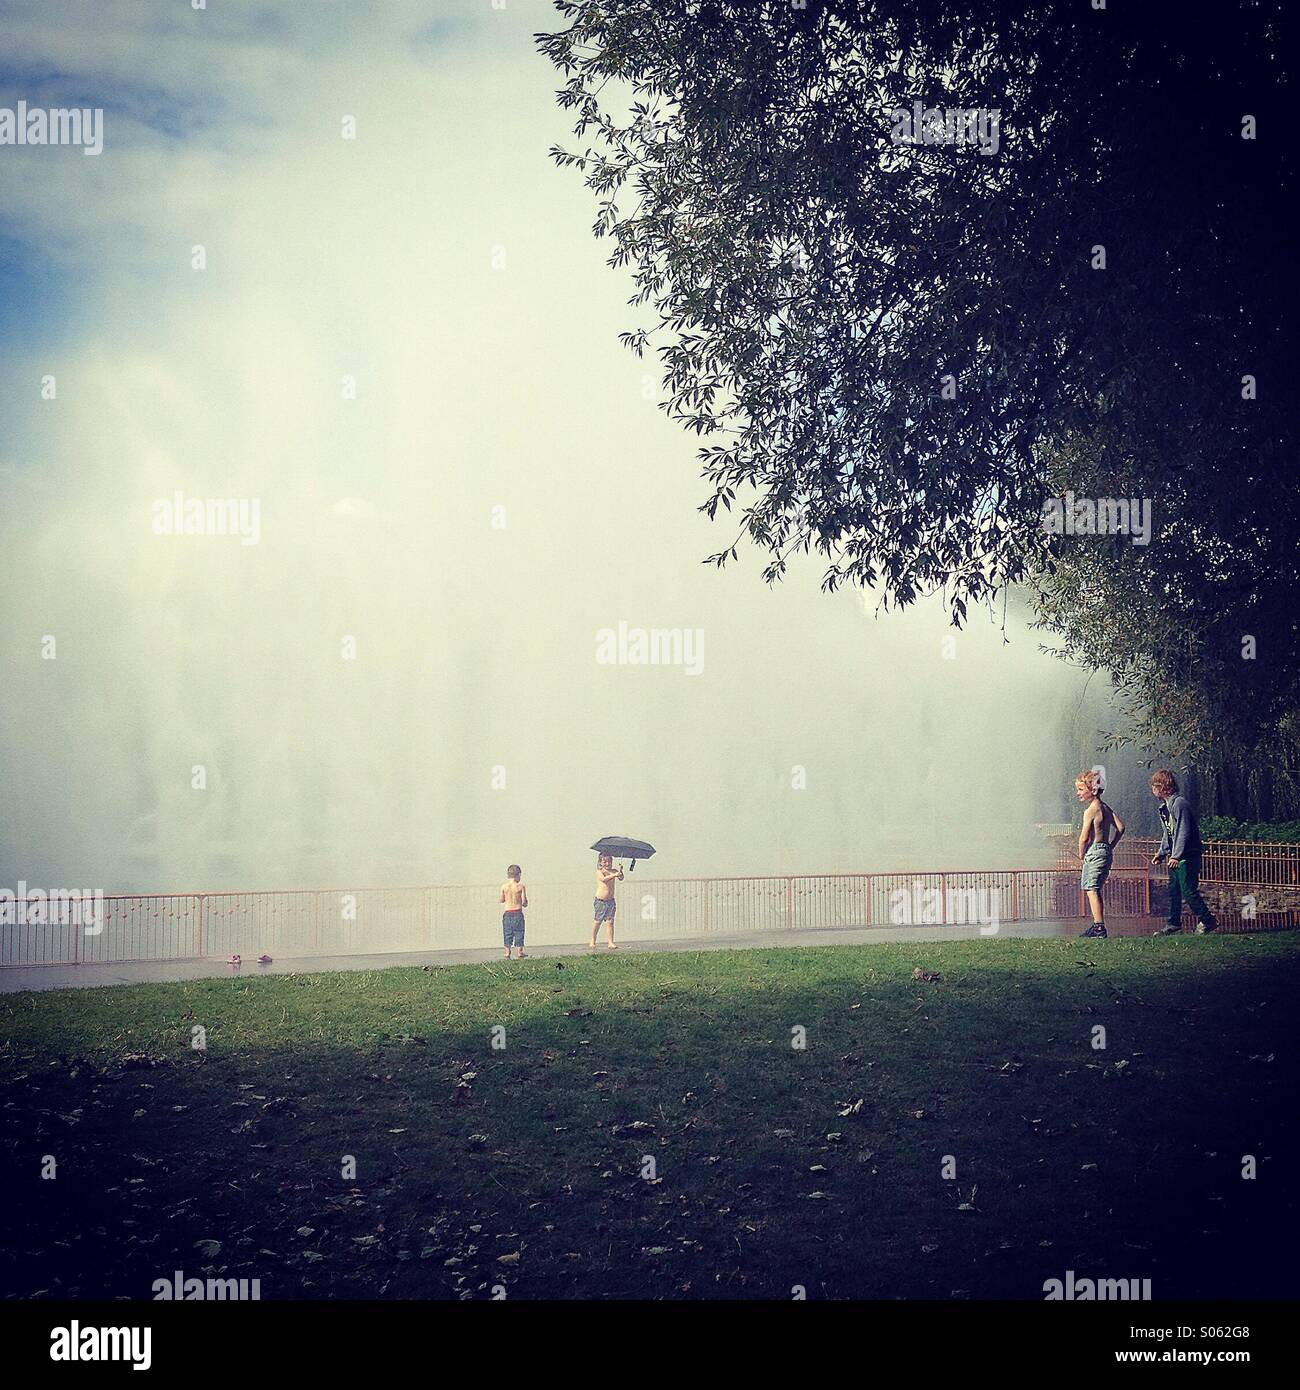
[[[701,436],[704,510],[738,512],[710,559],[749,541],[776,578],[813,550],[827,588],[943,589],[957,623],[1033,581],[1068,655],[1130,694],[1157,692],[1135,677],[1155,653],[1197,706],[1193,748],[1233,677],[1207,670],[1218,638],[1183,670],[1158,634],[1171,613],[1200,632],[1207,603],[1260,619],[1296,539],[1275,506],[1294,467],[1285,4],[558,10],[538,43],[584,143],[552,153],[631,271],[624,341],[659,353],[665,409]],[[934,115],[904,120],[915,103]],[[1114,591],[1114,546],[1044,532],[1076,480],[1157,503]],[[1115,600],[1144,624],[1128,646]],[[1294,664],[1294,632],[1271,635]]]

